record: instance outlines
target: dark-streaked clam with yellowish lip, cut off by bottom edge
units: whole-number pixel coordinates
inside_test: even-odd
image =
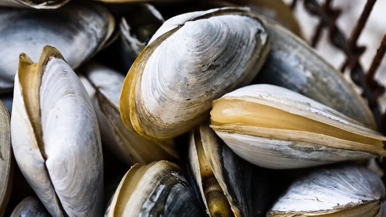
[[[105,217],[202,216],[193,189],[174,163],[136,163],[123,176]]]

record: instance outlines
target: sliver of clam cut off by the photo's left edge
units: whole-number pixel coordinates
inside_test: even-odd
[[[0,216],[4,214],[12,188],[12,150],[9,113],[0,101]]]

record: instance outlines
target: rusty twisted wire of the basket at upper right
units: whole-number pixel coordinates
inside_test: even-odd
[[[367,99],[367,103],[376,119],[378,129],[386,134],[386,113],[382,115],[378,104],[378,99],[385,93],[385,87],[380,85],[374,79],[375,72],[386,51],[386,38],[384,38],[381,43],[367,76],[358,61],[360,56],[365,51],[365,47],[357,46],[357,40],[366,24],[375,2],[376,0],[367,1],[360,18],[352,31],[350,39],[347,39],[337,26],[337,19],[341,10],[339,8],[332,8],[332,0],[326,0],[323,6],[321,6],[316,0],[303,1],[306,11],[311,15],[317,16],[320,20],[312,38],[311,46],[315,47],[317,45],[323,28],[327,28],[331,44],[346,54],[346,61],[344,62],[341,71],[343,72],[345,67],[349,66],[351,69],[350,77],[356,85],[362,88],[362,96]],[[295,4],[296,0],[292,1],[291,6],[294,7]]]

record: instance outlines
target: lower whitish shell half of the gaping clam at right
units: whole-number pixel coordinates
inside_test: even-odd
[[[333,149],[318,144],[220,131],[216,133],[246,161],[272,169],[309,167],[376,157],[370,153]]]

